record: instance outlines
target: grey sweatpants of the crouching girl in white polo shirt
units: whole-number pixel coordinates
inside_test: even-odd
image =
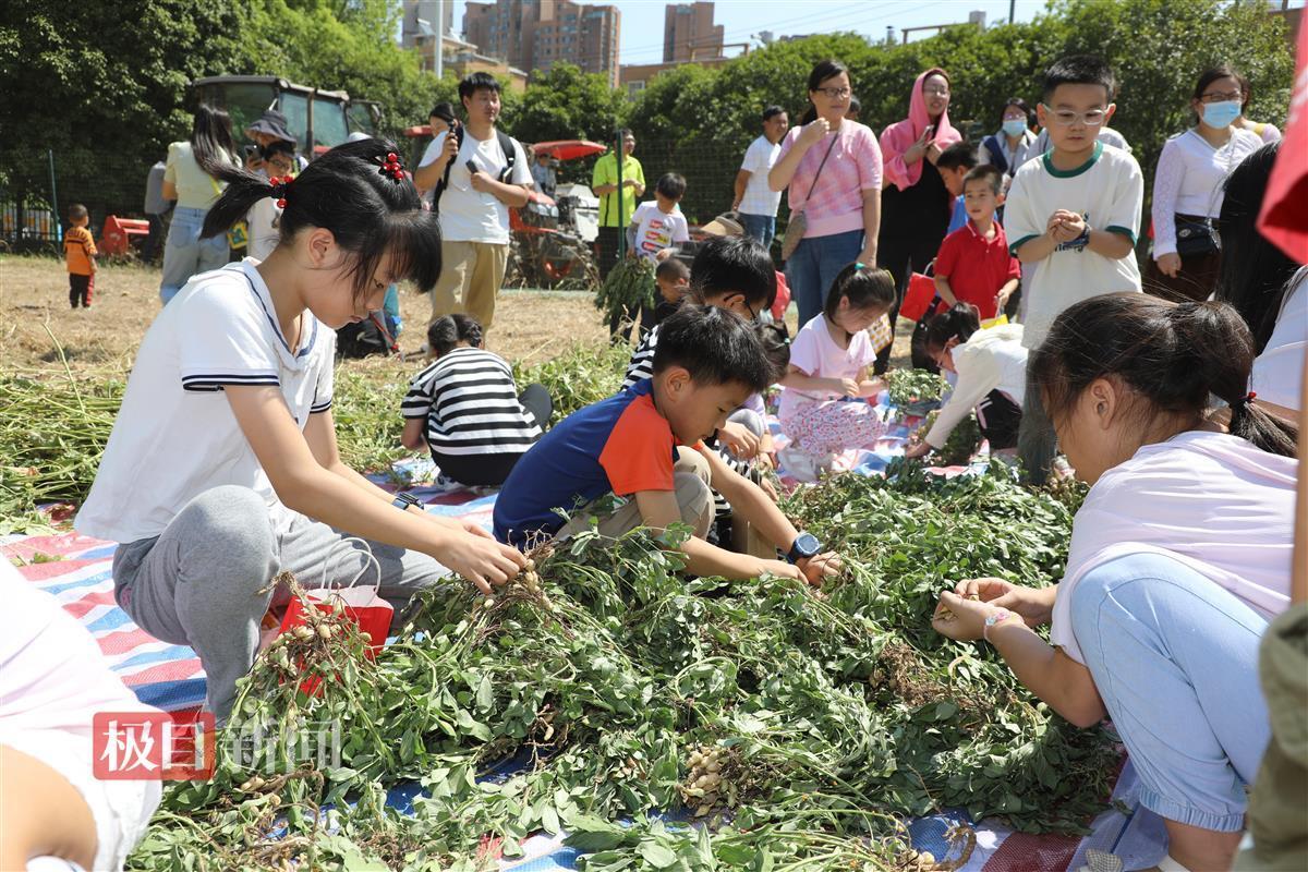
[[[114,596],[154,638],[195,648],[208,676],[205,709],[222,723],[235,702],[237,680],[254,665],[259,621],[271,604],[290,601],[285,587],[259,591],[283,570],[306,588],[348,584],[368,561],[357,543],[343,545],[343,539],[345,533],[303,515],[279,533],[254,490],[213,488],[187,503],[160,536],[119,546]],[[382,569],[379,595],[395,607],[392,626],[399,626],[412,595],[450,570],[420,552],[369,546]],[[358,583],[373,584],[375,577],[369,565]]]

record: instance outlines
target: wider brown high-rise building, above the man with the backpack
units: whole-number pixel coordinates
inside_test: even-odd
[[[542,72],[560,61],[576,64],[615,85],[620,27],[616,7],[570,0],[468,3],[463,10],[463,38],[483,55]]]

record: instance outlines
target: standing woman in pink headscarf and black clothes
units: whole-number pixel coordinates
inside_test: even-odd
[[[904,299],[909,276],[922,272],[940,250],[954,197],[935,169],[940,153],[963,136],[950,124],[950,75],[939,67],[927,69],[913,82],[908,118],[882,132],[886,184],[882,188],[880,239],[876,265],[895,276],[899,299]],[[899,305],[891,309],[891,327]],[[876,374],[886,371],[891,349],[876,356]]]

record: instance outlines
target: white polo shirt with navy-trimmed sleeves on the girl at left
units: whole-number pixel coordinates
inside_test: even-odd
[[[145,332],[78,532],[132,543],[158,536],[186,503],[218,485],[277,501],[222,388],[281,390],[300,429],[331,408],[336,335],[307,310],[292,353],[251,259],[191,278]]]

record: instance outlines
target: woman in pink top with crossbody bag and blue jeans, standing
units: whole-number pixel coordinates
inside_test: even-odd
[[[853,89],[849,69],[823,60],[808,75],[802,119],[781,140],[768,173],[773,191],[786,190],[791,220],[807,221],[799,247],[786,260],[786,281],[799,305],[799,323],[823,311],[823,294],[848,264],[876,263],[882,214],[882,150],[865,124],[845,118]]]

